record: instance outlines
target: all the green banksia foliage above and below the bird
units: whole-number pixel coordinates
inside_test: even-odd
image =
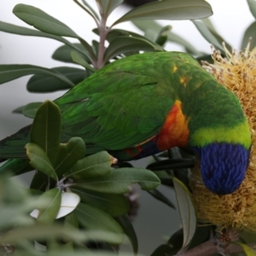
[[[91,44],[43,10],[17,4],[14,14],[35,29],[0,21],[0,31],[60,41],[63,45],[55,50],[52,58],[80,67],[49,69],[28,64],[0,65],[0,84],[33,74],[26,84],[30,92],[67,90],[110,61],[141,51],[164,51],[168,41],[183,45],[187,52],[200,60],[209,59],[208,55],[203,55],[172,32],[172,26],[162,27],[154,20],[192,20],[208,42],[224,51],[223,38],[210,21],[195,20],[212,15],[211,6],[204,0],[148,3],[132,9],[107,27],[108,16],[122,2],[96,0],[96,11],[85,0],[74,0],[96,22],[93,32],[99,36],[99,40]],[[251,0],[247,2],[255,15],[255,3]],[[144,35],[113,28],[127,20],[131,20]],[[254,23],[245,32],[243,46],[248,37],[253,36]],[[71,43],[67,38],[76,38],[78,42]],[[189,168],[194,165],[194,154],[188,148],[172,148],[169,152],[154,156],[155,162],[146,169],[127,167],[129,163],[116,163],[107,152],[84,157],[86,148],[79,137],[60,143],[61,113],[53,102],[32,102],[14,112],[23,113],[34,120],[31,141],[26,144],[28,160],[17,160],[18,169],[9,161],[0,168],[0,253],[8,255],[15,250],[15,255],[43,255],[32,245],[32,241],[38,241],[47,248],[44,255],[83,253],[107,256],[112,253],[98,254],[90,251],[90,248],[108,248],[114,252],[113,245],[120,244],[124,236],[129,238],[134,253],[137,253],[137,236],[127,217],[130,205],[125,197],[133,183],[139,183],[142,189],[148,190],[169,207],[174,207],[172,202],[155,188],[161,182],[177,193],[183,230],[178,230],[166,244],[156,248],[152,256],[182,253],[209,239],[215,227],[198,227],[189,192]],[[28,161],[31,167],[24,167]],[[10,171],[17,175],[32,170],[36,172],[30,189],[21,189],[8,176]],[[34,218],[29,217],[29,213]],[[243,237],[247,237],[247,234],[244,233]],[[243,242],[247,242],[246,238]],[[247,255],[251,255],[246,246],[239,245]]]

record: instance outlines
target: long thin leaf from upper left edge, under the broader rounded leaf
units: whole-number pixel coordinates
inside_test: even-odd
[[[0,21],[0,31],[9,32],[12,34],[22,35],[22,36],[32,36],[32,37],[41,37],[41,38],[51,38],[57,41],[60,41],[63,44],[67,44],[72,49],[79,51],[82,55],[86,57],[87,53],[85,53],[84,49],[80,49],[76,44],[72,44],[67,41],[65,38],[61,38],[59,36],[55,36],[49,33],[41,32],[38,30],[30,29],[24,26],[16,26],[13,24],[9,24],[7,22]],[[89,55],[89,54],[88,54]],[[89,56],[88,56],[89,57]]]

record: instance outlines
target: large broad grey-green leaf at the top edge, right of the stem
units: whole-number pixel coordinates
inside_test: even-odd
[[[211,5],[203,0],[166,0],[132,9],[113,25],[128,20],[194,20],[212,15]]]

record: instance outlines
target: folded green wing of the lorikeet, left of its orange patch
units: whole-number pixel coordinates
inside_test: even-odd
[[[63,133],[110,150],[156,135],[173,104],[172,96],[158,91],[160,61],[158,55],[115,61],[61,96],[55,102]]]

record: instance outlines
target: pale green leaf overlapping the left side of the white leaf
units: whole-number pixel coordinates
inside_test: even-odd
[[[48,203],[44,207],[38,207],[30,215],[33,218],[38,218],[38,222],[40,223],[53,223],[61,207],[61,190],[57,188],[49,189],[40,195],[38,200],[48,201]]]

